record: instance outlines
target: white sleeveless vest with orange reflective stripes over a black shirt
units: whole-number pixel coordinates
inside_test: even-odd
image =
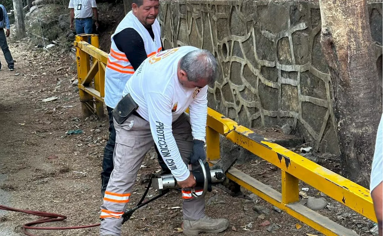
[[[129,11],[124,19],[118,24],[117,29],[111,36],[110,53],[108,55],[108,64],[105,69],[105,97],[104,101],[108,107],[115,108],[119,100],[122,98],[126,82],[133,75],[134,69],[130,64],[124,52],[118,50],[113,36],[126,28],[133,28],[141,36],[144,41],[145,51],[148,57],[160,52],[161,46],[161,31],[160,23],[156,19],[152,25],[154,40],[150,36],[147,29],[141,24],[133,11]],[[130,42],[126,42],[130,43]]]

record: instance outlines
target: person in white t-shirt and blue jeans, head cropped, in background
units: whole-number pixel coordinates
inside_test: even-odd
[[[93,31],[93,19],[98,29],[98,14],[96,0],[70,0],[70,29],[74,30],[73,21],[76,19],[76,34],[91,34]]]

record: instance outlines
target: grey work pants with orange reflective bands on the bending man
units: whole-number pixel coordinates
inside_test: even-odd
[[[114,125],[116,129],[116,146],[113,153],[115,167],[110,175],[101,206],[101,236],[121,235],[123,220],[121,216],[127,208],[142,160],[154,144],[149,122],[139,116],[131,115],[122,125],[116,122]],[[188,164],[193,150],[193,137],[186,113],[173,122],[172,131],[181,157],[185,164]],[[195,167],[197,166],[193,166]],[[190,189],[182,190],[183,219],[198,220],[205,216],[205,199],[195,199],[191,197],[189,191]],[[196,187],[196,193],[201,193],[201,188]]]

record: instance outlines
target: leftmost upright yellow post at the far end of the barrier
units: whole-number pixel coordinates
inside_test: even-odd
[[[76,42],[85,41],[86,36],[76,35]],[[82,51],[79,47],[76,47],[76,61],[77,61],[77,76],[79,79],[79,95],[82,102],[82,115],[88,117],[92,115],[93,110],[93,97],[84,90],[81,89],[81,81],[85,79],[90,70],[89,54]],[[92,110],[91,110],[92,109]]]

